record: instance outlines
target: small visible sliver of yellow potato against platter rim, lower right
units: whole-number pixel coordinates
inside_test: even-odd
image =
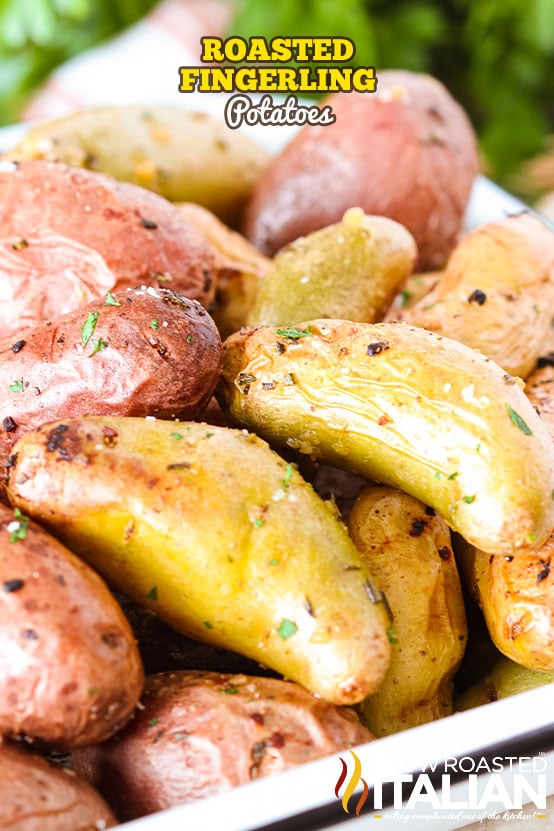
[[[484,678],[462,693],[456,701],[456,710],[470,710],[552,683],[554,672],[527,669],[502,656]]]

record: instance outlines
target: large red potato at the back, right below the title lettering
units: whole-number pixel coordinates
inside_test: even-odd
[[[304,127],[269,164],[247,208],[247,238],[272,255],[358,205],[413,234],[418,268],[443,265],[478,167],[461,107],[439,81],[400,70],[380,72],[371,95],[324,103],[336,122]]]

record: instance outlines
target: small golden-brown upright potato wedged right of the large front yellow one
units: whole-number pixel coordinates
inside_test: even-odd
[[[413,496],[370,486],[348,530],[393,618],[391,662],[377,692],[358,705],[362,720],[387,736],[449,715],[467,625],[448,525]]]

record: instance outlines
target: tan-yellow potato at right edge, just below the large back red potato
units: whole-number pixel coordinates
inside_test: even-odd
[[[458,243],[436,286],[395,320],[479,349],[527,377],[554,308],[554,233],[530,214],[482,225]]]

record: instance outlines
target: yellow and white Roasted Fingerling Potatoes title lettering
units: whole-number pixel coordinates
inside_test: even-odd
[[[179,67],[179,92],[231,92],[227,126],[333,124],[328,105],[299,104],[297,95],[375,92],[372,66],[348,64],[356,47],[344,37],[202,37],[201,66]],[[292,62],[292,63],[291,63]],[[286,64],[286,65],[284,65]],[[251,93],[264,93],[255,104]],[[286,95],[275,105],[271,93]]]

